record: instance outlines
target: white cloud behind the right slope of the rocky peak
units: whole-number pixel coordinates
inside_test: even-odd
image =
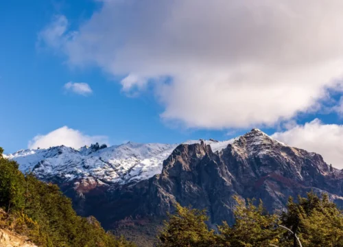
[[[343,125],[322,124],[314,119],[303,126],[297,125],[285,132],[272,134],[276,140],[321,154],[333,167],[343,168]]]

